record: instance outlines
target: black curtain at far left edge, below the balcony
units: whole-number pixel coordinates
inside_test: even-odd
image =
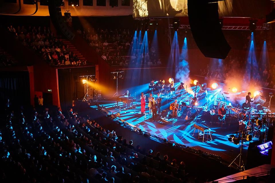
[[[1,104],[9,99],[13,107],[30,105],[29,72],[0,72],[0,98]]]

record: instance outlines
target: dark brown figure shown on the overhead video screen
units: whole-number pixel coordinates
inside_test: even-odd
[[[176,11],[170,0],[148,0],[147,1],[148,17],[166,17],[167,13],[170,17],[174,17],[177,13],[181,13],[182,9]]]

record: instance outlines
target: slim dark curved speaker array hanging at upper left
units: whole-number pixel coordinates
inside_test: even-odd
[[[74,33],[69,29],[65,17],[62,16],[61,1],[48,1],[48,8],[50,18],[56,31],[70,40],[74,39]]]

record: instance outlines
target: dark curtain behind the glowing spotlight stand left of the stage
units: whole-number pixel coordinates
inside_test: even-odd
[[[95,75],[95,67],[58,69],[60,105],[63,109],[72,106],[72,101],[84,97],[81,75]]]

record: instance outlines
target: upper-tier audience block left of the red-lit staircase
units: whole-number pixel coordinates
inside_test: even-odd
[[[8,31],[15,34],[15,38],[19,39],[22,44],[42,56],[51,66],[81,66],[86,65],[87,60],[80,60],[78,56],[70,50],[68,45],[58,39],[49,28],[30,27],[26,29],[24,26],[14,29],[13,26],[8,27]]]

